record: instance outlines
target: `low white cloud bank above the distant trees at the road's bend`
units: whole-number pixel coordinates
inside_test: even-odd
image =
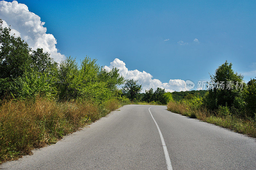
[[[119,59],[115,59],[113,62],[110,63],[110,66],[104,66],[104,69],[107,71],[111,70],[112,68],[116,67],[119,69],[119,74],[124,76],[125,79],[133,79],[138,80],[139,84],[142,84],[142,92],[145,92],[145,89],[148,90],[153,88],[154,90],[157,87],[165,89],[165,91],[173,92],[173,91],[186,91],[185,88],[185,81],[180,79],[169,80],[168,83],[162,83],[158,79],[152,79],[153,76],[145,71],[139,70],[128,70],[125,66],[124,61]]]

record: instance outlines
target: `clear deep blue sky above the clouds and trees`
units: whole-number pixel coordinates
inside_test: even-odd
[[[41,17],[61,54],[78,60],[109,66],[118,58],[162,82],[208,80],[225,60],[245,81],[256,76],[255,1],[18,3]]]

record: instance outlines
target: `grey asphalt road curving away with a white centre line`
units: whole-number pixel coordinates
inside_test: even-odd
[[[167,169],[169,158],[172,169],[256,169],[255,138],[166,109],[123,106],[90,127],[0,168]]]

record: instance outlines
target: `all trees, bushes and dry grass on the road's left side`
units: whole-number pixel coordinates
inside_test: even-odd
[[[152,89],[142,100],[137,81],[124,80],[118,69],[106,71],[87,56],[79,63],[72,57],[56,63],[2,24],[0,19],[0,164],[56,143],[123,105],[171,99]]]

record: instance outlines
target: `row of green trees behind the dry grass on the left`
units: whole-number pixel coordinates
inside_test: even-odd
[[[58,65],[49,53],[40,48],[32,51],[20,37],[10,35],[10,27],[2,25],[0,19],[0,100],[40,94],[60,101],[78,99],[99,104],[121,95],[117,86],[124,83],[124,77],[118,69],[106,71],[87,56],[80,66],[71,57]]]

